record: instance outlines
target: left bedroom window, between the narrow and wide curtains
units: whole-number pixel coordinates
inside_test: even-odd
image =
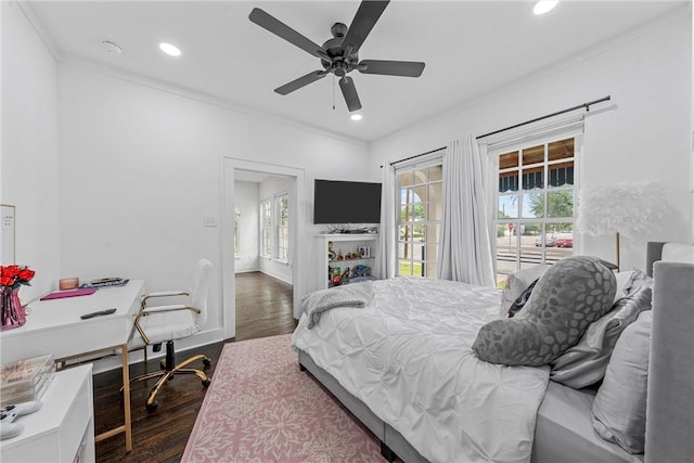
[[[444,166],[398,169],[398,274],[436,278],[442,216]]]

